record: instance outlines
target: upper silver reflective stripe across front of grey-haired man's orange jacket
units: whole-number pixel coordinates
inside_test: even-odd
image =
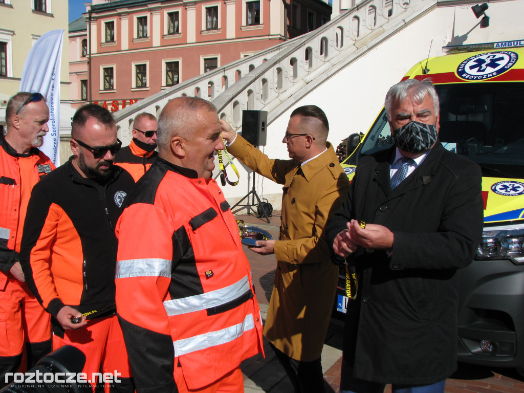
[[[228,303],[241,297],[247,291],[250,291],[249,280],[247,276],[245,276],[225,288],[188,296],[187,298],[166,300],[164,307],[168,315],[187,314],[189,312],[201,311]]]

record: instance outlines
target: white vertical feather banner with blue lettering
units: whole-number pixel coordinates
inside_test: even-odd
[[[43,151],[57,167],[60,165],[60,59],[64,30],[43,34],[29,51],[20,81],[20,91],[46,97],[49,106],[49,132],[43,138]]]

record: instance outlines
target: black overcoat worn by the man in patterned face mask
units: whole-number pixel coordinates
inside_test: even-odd
[[[456,368],[457,269],[471,263],[483,227],[479,166],[437,142],[394,191],[395,149],[364,157],[340,211],[326,226],[332,245],[350,219],[394,233],[385,250],[359,247],[348,304],[344,359],[353,376],[383,384],[425,385]]]

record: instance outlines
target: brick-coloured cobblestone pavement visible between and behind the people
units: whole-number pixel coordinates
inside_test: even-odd
[[[280,212],[273,212],[270,223],[255,215],[237,215],[246,225],[253,225],[268,231],[278,238]],[[267,312],[276,260],[274,255],[258,255],[244,246],[253,272],[253,282],[263,319]],[[339,393],[340,370],[342,365],[342,325],[332,321],[322,351],[322,369],[326,381],[326,393]],[[293,387],[286,373],[278,363],[275,354],[264,339],[266,357],[254,356],[242,363],[245,393],[293,393]],[[489,369],[481,366],[459,364],[457,372],[446,380],[447,393],[524,393],[524,378],[514,369]],[[387,386],[386,393],[391,392]]]

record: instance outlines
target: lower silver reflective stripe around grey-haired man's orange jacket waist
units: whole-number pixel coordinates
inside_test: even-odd
[[[255,323],[253,321],[253,315],[249,314],[246,315],[244,322],[230,326],[229,328],[199,334],[188,339],[173,341],[174,357],[231,342],[251,329],[255,329]]]

